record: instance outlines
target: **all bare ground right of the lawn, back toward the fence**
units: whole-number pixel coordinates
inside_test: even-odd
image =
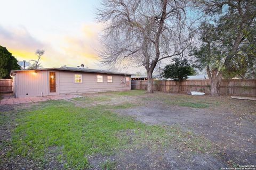
[[[256,164],[255,101],[233,100],[229,97],[162,94],[159,92],[154,95],[147,94],[144,96],[142,100],[145,103],[143,105],[119,109],[116,112],[132,115],[143,123],[178,125],[183,130],[189,129],[196,134],[204,135],[214,143],[212,149],[215,158],[207,160],[207,157],[202,155],[193,155],[188,158],[188,160],[196,160],[194,157],[202,157],[203,159],[200,159],[198,165],[204,162],[204,164],[209,165],[206,167],[215,169],[216,167],[212,166],[212,163],[232,167]],[[218,102],[218,104],[209,105],[207,108],[197,108],[197,105],[195,107],[193,105],[193,107],[179,106],[186,98],[195,101],[194,104],[201,101],[209,104]],[[179,163],[184,163],[184,160]],[[199,167],[198,169],[201,169]],[[180,168],[186,169],[182,166]]]

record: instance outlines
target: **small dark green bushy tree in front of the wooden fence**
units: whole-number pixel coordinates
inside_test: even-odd
[[[174,63],[167,64],[164,67],[162,77],[165,79],[173,79],[174,81],[182,81],[188,78],[188,75],[195,74],[193,67],[190,66],[185,58],[173,58]]]

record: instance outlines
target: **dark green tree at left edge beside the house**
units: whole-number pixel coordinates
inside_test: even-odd
[[[10,78],[11,70],[20,70],[17,59],[5,47],[0,46],[0,79]]]

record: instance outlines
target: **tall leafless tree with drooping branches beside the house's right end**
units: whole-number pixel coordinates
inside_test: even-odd
[[[106,0],[98,21],[106,25],[100,51],[103,64],[133,62],[144,66],[148,92],[153,92],[153,71],[165,58],[178,56],[191,44],[193,23],[188,22],[186,0]]]

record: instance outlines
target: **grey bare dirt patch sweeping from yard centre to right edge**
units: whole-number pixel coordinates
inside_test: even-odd
[[[179,125],[185,131],[191,129],[215,144],[215,153],[225,164],[255,165],[256,115],[243,113],[241,117],[230,113],[229,109],[223,110],[166,106],[161,101],[150,101],[144,106],[116,112],[132,115],[147,124]]]

